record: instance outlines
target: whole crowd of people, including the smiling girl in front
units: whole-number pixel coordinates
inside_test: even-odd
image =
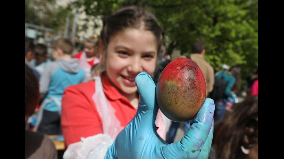
[[[164,34],[153,14],[128,6],[105,19],[101,34],[86,39],[74,56],[68,39],[52,42],[52,60],[46,45],[26,39],[26,158],[57,158],[47,137],[55,134],[64,137],[66,159],[256,158],[258,70],[250,94],[238,103],[240,67],[215,73],[201,41],[187,58],[203,73],[206,100],[174,142],[180,123],[155,102],[156,83],[171,61]],[[219,79],[226,85],[213,98]],[[228,102],[236,105],[231,114],[225,114]],[[228,146],[231,139],[238,139],[234,146]]]

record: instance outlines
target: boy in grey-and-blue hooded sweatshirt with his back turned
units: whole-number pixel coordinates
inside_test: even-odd
[[[43,100],[35,131],[48,135],[61,134],[61,96],[63,90],[81,83],[84,72],[79,67],[78,59],[71,57],[72,42],[59,39],[52,43],[52,57],[54,61],[48,63],[39,81],[39,91]]]

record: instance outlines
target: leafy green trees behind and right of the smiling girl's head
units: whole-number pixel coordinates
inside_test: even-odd
[[[258,67],[258,0],[81,0],[89,16],[110,16],[121,6],[138,5],[152,12],[165,30],[167,52],[174,48],[191,54],[191,46],[201,40],[205,59],[216,71],[221,66],[239,65],[245,79]]]

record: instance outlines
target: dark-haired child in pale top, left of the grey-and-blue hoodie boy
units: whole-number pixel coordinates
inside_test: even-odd
[[[40,76],[43,74],[45,66],[50,63],[48,59],[47,46],[44,44],[36,44],[34,46],[34,59],[31,60],[31,64],[39,72]]]

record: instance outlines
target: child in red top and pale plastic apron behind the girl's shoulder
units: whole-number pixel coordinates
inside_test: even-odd
[[[79,65],[85,71],[88,80],[91,80],[91,68],[94,64],[101,62],[99,58],[99,37],[98,35],[91,36],[85,40],[82,52],[73,56],[77,58]]]

